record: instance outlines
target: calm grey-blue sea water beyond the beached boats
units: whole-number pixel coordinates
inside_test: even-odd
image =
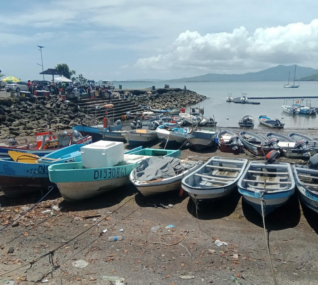
[[[241,93],[246,93],[247,97],[284,97],[284,96],[318,96],[318,82],[301,82],[299,88],[283,88],[287,82],[169,82],[170,87],[183,88],[195,91],[199,94],[209,97],[207,100],[200,102],[196,106],[204,107],[204,117],[215,117],[219,127],[238,127],[238,121],[244,115],[253,115],[255,117],[254,128],[267,128],[259,125],[257,117],[259,115],[267,115],[270,118],[278,118],[285,123],[285,128],[302,129],[317,128],[318,115],[289,115],[284,113],[281,105],[284,99],[261,99],[251,100],[260,102],[259,105],[252,104],[235,104],[225,102],[227,94],[232,92],[232,97],[241,97]],[[115,87],[117,88],[117,82]],[[149,88],[156,86],[162,88],[165,82],[122,82],[123,89],[132,88]],[[296,99],[295,99],[296,100]],[[289,99],[287,105],[293,103]],[[309,103],[309,100],[308,100]],[[318,107],[318,98],[311,99],[311,106]],[[306,99],[303,102],[306,105]],[[190,107],[186,107],[186,112],[190,111]],[[281,119],[283,116],[283,119]],[[227,119],[228,118],[228,119]]]

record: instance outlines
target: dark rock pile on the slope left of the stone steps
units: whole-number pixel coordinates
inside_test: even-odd
[[[38,96],[28,101],[4,99],[0,101],[0,139],[46,132],[52,116],[70,112],[85,117],[83,110],[76,104],[61,100],[58,96]],[[79,122],[79,116],[74,114],[56,117],[52,119],[51,129],[71,129]]]

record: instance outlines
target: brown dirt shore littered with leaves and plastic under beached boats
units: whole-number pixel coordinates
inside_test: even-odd
[[[316,137],[318,132],[310,134]],[[248,151],[239,155],[217,149],[198,153],[187,146],[181,158],[206,161],[212,156],[259,159]],[[23,285],[41,281],[114,284],[101,280],[102,275],[111,275],[124,278],[127,284],[274,284],[261,216],[237,191],[198,212],[189,197],[179,197],[179,193],[146,198],[137,192],[128,185],[69,203],[57,189],[52,191],[18,226],[0,232],[0,280]],[[35,193],[9,199],[0,194],[1,228],[23,213],[22,207],[33,206],[42,196]],[[53,205],[60,211],[54,211],[54,216],[42,214]],[[85,218],[91,215],[100,217]],[[269,214],[265,223],[278,284],[318,284],[318,215],[295,195]],[[175,227],[166,229],[167,225]],[[151,232],[154,226],[160,229]],[[102,233],[105,229],[108,231]],[[119,235],[124,239],[108,241],[109,236]],[[228,246],[217,246],[215,239]],[[85,260],[87,266],[73,267],[77,260]],[[184,275],[193,278],[182,279]]]

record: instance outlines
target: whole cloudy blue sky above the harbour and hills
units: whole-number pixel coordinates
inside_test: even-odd
[[[96,81],[318,68],[317,11],[313,0],[5,1],[0,69],[41,78],[37,45],[44,69],[67,63]]]

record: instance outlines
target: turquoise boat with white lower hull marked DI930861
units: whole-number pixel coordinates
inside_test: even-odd
[[[56,183],[66,201],[77,201],[103,194],[129,183],[130,172],[151,156],[180,156],[180,150],[146,148],[124,154],[124,160],[113,167],[84,168],[82,162],[50,165],[49,177]]]

